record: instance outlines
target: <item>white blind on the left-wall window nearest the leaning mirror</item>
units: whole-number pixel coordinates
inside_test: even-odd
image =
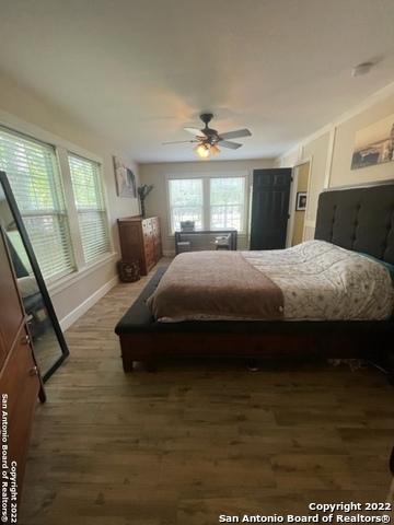
[[[74,269],[54,147],[0,128],[0,170],[10,180],[45,279]]]

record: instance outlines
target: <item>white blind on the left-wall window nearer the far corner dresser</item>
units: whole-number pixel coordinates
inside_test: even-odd
[[[68,161],[84,260],[90,264],[111,249],[100,164],[72,153]]]

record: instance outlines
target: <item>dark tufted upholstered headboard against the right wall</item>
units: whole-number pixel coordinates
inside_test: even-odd
[[[394,265],[394,182],[323,191],[315,238]]]

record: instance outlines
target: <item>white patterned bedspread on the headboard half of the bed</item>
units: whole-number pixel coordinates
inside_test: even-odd
[[[308,241],[292,248],[242,255],[280,287],[286,319],[386,319],[393,314],[389,270],[355,252]]]

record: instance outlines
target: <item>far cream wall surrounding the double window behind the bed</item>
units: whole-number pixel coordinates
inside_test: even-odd
[[[149,215],[160,217],[162,226],[162,242],[164,253],[170,255],[174,253],[174,237],[170,234],[167,199],[166,199],[166,176],[211,173],[231,174],[244,173],[248,177],[248,187],[252,184],[253,170],[273,167],[274,160],[262,159],[253,161],[196,161],[177,162],[161,164],[141,164],[140,178],[142,184],[152,184],[154,186],[147,198],[147,213]],[[246,248],[247,237],[239,236],[239,247]]]

